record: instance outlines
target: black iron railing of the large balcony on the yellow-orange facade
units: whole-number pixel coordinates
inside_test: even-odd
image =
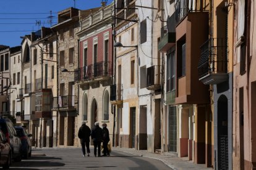
[[[198,76],[228,73],[228,46],[225,38],[208,39],[200,47],[201,56],[198,62]]]

